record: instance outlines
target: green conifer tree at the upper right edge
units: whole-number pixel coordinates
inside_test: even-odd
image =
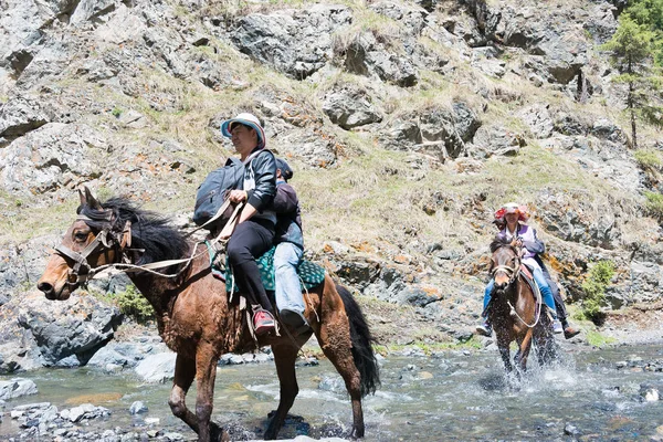
[[[620,72],[615,83],[628,87],[627,109],[631,120],[633,148],[638,147],[636,119],[640,117],[657,126],[663,125],[663,108],[657,106],[652,92],[660,91],[661,77],[654,72],[651,61],[654,55],[655,34],[646,24],[639,24],[629,13],[619,19],[619,28],[603,49],[611,51],[611,63]]]

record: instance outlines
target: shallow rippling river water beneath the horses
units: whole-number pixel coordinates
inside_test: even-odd
[[[663,372],[641,368],[657,360],[660,369],[662,347],[573,350],[571,346],[565,351],[564,360],[552,368],[539,369],[530,359],[533,369],[519,383],[505,379],[496,350],[390,355],[380,360],[382,387],[364,402],[366,441],[649,441],[663,436],[663,400],[646,401],[641,392],[644,383],[663,394]],[[622,367],[620,361],[630,362]],[[130,373],[107,375],[87,368],[21,373],[36,383],[39,394],[6,403],[0,440],[21,431],[9,410],[45,401],[60,410],[84,402],[110,409],[109,419],[91,422],[98,429],[154,428],[193,440],[193,433],[170,414],[170,386],[146,385]],[[280,436],[343,436],[351,423],[350,403],[330,364],[298,366],[297,379],[299,396],[291,413],[302,419],[290,420]],[[190,406],[193,394],[189,393]],[[213,419],[230,422],[238,438],[260,439],[277,397],[273,362],[221,367]],[[128,409],[137,400],[149,411],[131,417]],[[159,422],[146,427],[146,418]]]

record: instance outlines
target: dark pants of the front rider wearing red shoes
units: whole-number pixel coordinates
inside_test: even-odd
[[[260,280],[255,259],[272,248],[274,225],[269,221],[248,220],[239,224],[228,242],[228,260],[238,286],[251,305],[272,311],[272,303]]]

